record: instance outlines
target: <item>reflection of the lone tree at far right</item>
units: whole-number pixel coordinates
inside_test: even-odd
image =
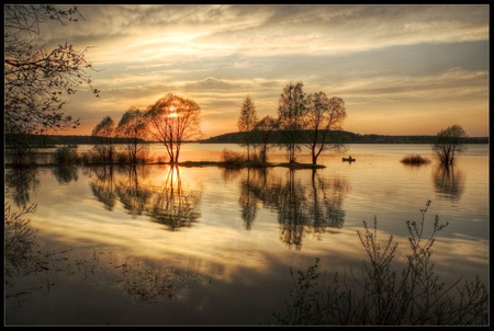
[[[434,185],[437,193],[458,199],[463,194],[463,175],[454,166],[438,164],[434,171]]]

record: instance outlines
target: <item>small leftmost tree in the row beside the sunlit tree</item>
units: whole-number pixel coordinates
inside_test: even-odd
[[[115,122],[110,116],[105,116],[92,129],[93,150],[100,156],[102,162],[113,162],[115,130]]]

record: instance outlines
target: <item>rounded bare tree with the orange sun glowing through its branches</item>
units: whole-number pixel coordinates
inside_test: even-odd
[[[167,149],[171,163],[177,163],[183,142],[199,138],[200,106],[192,100],[168,93],[149,107],[149,134]]]

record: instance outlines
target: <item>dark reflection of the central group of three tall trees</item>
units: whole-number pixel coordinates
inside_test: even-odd
[[[348,182],[340,176],[323,178],[317,171],[313,171],[310,179],[306,174],[288,170],[283,181],[266,168],[246,170],[238,201],[245,228],[251,229],[259,203],[278,213],[280,239],[296,249],[302,248],[304,233],[319,236],[332,228],[341,228],[345,220],[341,206],[349,191]]]

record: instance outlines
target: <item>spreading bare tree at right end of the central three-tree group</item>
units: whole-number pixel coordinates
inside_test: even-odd
[[[308,141],[305,146],[311,149],[313,164],[317,163],[317,158],[325,150],[339,152],[345,149],[343,144],[329,144],[329,132],[341,129],[346,117],[345,101],[341,98],[328,99],[324,92],[308,94],[305,117]]]

